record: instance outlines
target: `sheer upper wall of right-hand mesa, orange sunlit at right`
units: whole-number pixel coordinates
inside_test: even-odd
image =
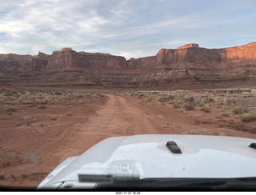
[[[157,54],[157,64],[165,64],[170,68],[184,62],[186,66],[194,64],[191,68],[223,69],[228,67],[228,62],[234,63],[234,66],[240,66],[241,62],[246,60],[256,60],[256,42],[222,49],[186,45],[177,50],[162,49]]]

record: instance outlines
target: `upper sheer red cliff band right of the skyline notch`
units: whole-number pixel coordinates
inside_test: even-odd
[[[133,59],[129,67],[143,69],[226,69],[231,66],[245,66],[247,62],[255,63],[256,42],[245,46],[222,49],[200,48],[198,44],[186,44],[178,49],[162,49],[155,57]],[[246,63],[245,63],[246,61]],[[141,66],[142,65],[142,66]]]

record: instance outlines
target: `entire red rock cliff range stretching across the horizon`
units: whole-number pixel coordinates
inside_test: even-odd
[[[63,48],[47,55],[0,54],[0,82],[70,82],[88,86],[172,86],[256,82],[256,42],[221,49],[196,43],[126,58]]]

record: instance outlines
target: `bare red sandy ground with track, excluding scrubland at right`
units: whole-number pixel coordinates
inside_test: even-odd
[[[217,109],[211,113],[174,109],[171,104],[128,94],[81,95],[62,91],[56,95],[56,91],[37,91],[39,94],[31,98],[33,90],[30,94],[28,90],[19,93],[25,94],[24,91],[29,95],[27,100],[2,96],[0,101],[2,186],[34,189],[67,157],[78,156],[107,137],[203,134],[256,138],[255,133],[246,132],[245,128],[234,128],[244,127],[238,117],[219,117]],[[52,94],[48,101],[46,94]],[[35,105],[38,96],[46,103]],[[6,113],[10,106],[17,110]],[[246,125],[250,129],[256,123]]]

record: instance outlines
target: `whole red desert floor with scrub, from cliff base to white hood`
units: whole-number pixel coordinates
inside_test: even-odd
[[[254,90],[74,90],[1,86],[0,185],[34,189],[67,157],[107,137],[256,138]]]

